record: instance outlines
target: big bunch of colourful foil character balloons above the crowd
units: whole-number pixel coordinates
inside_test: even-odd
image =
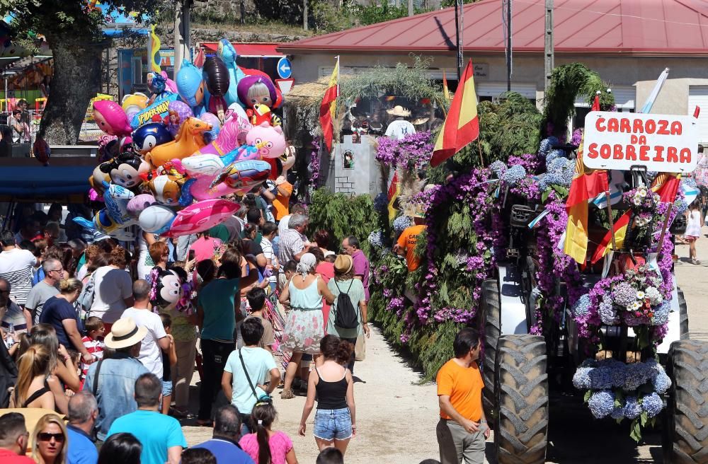
[[[243,195],[292,166],[270,112],[282,95],[261,71],[236,66],[227,40],[203,69],[185,61],[174,82],[154,74],[149,88],[150,98],[93,103],[107,161],[89,182],[105,207],[93,221],[75,219],[82,226],[119,240],[135,238],[135,225],[162,236],[198,233],[239,209],[224,196]]]

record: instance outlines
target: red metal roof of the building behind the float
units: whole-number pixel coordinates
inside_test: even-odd
[[[544,0],[513,0],[515,52],[543,52]],[[464,6],[464,50],[503,52],[501,0]],[[708,54],[707,0],[555,0],[555,52]],[[278,45],[299,51],[450,52],[455,8]]]

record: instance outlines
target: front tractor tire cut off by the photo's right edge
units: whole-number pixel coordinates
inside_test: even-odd
[[[707,464],[708,342],[673,342],[666,373],[672,384],[663,414],[663,462]]]

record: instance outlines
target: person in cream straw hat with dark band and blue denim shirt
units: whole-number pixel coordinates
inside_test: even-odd
[[[118,319],[110,327],[110,334],[105,337],[105,346],[115,350],[115,354],[89,367],[84,390],[93,393],[98,401],[98,441],[105,441],[115,419],[137,410],[135,381],[149,372],[137,360],[140,344],[146,334],[147,329],[139,327],[132,318]]]

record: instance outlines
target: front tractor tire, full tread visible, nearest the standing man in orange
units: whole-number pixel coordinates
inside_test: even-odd
[[[538,335],[504,335],[496,353],[499,464],[542,464],[548,444],[546,342]]]

